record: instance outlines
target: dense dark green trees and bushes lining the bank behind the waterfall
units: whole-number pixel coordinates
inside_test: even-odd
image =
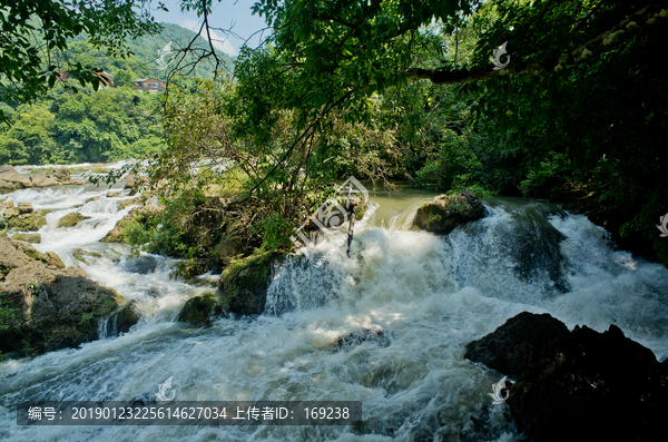
[[[210,0],[181,3],[207,22]],[[149,170],[165,195],[236,195],[237,233],[265,248],[288,247],[317,200],[307,196],[348,174],[551,197],[668,264],[655,227],[668,190],[661,4],[263,0],[254,11],[273,35],[242,49],[234,77],[170,88]],[[494,70],[505,41],[510,63]],[[126,137],[141,145],[109,140],[95,155],[155,151],[147,130]]]

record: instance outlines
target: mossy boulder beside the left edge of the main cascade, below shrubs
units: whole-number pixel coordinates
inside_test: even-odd
[[[229,312],[261,314],[264,312],[271,264],[276,253],[255,253],[233,261],[223,272],[219,288],[224,293]]]

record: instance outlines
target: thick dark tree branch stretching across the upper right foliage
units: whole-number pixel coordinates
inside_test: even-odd
[[[527,63],[521,60],[513,60],[505,68],[500,70],[493,70],[490,67],[461,70],[412,68],[407,70],[407,75],[413,78],[426,78],[435,84],[442,85],[458,85],[508,75],[547,76],[571,69],[588,59],[591,59],[593,56],[608,52],[630,40],[640,31],[659,23],[665,23],[667,20],[668,7],[666,3],[651,4],[632,13],[612,29],[609,29],[587,43],[571,50],[566,56],[541,63]]]

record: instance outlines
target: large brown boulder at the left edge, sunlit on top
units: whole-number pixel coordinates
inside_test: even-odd
[[[0,291],[3,320],[0,352],[36,355],[75,347],[98,338],[98,322],[121,298],[75,267],[63,268],[53,253],[42,254],[26,242],[0,237]]]

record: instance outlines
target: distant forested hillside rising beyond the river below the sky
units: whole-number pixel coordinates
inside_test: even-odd
[[[58,85],[47,99],[33,105],[0,102],[0,109],[10,117],[10,125],[0,132],[0,164],[73,164],[100,163],[140,157],[160,149],[160,128],[156,109],[161,94],[138,92],[132,89],[138,78],[167,80],[170,71],[156,62],[159,50],[170,45],[173,51],[187,46],[195,32],[171,23],[161,23],[156,36],[144,36],[128,41],[134,55],[110,57],[94,48],[84,37],[69,43],[63,66],[81,63],[95,66],[114,76],[115,86],[97,91],[90,86],[72,94]],[[194,47],[207,43],[197,37]],[[166,55],[169,62],[174,55]],[[193,59],[189,56],[186,59]],[[222,55],[227,70],[233,60]],[[173,82],[193,84],[193,78],[213,76],[209,61],[198,63],[188,77],[174,77]]]

